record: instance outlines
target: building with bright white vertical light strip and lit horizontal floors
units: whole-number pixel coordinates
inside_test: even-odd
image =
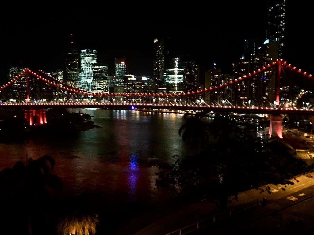
[[[182,92],[183,90],[183,66],[180,58],[172,59],[171,69],[166,69],[164,73],[167,91]]]

